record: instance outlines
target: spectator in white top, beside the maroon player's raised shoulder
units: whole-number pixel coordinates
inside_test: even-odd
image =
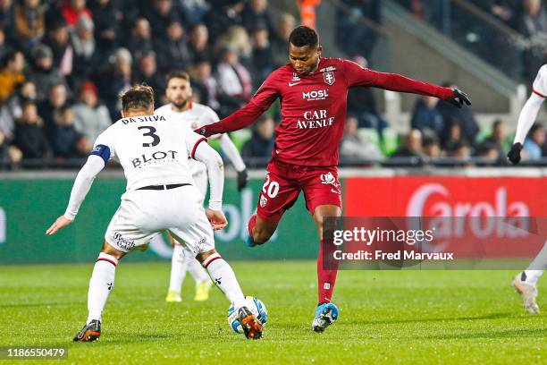
[[[224,117],[248,102],[253,86],[247,68],[240,64],[238,54],[233,47],[224,49],[216,74],[220,90],[220,116]]]

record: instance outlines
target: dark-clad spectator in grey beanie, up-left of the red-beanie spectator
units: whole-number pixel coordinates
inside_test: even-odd
[[[53,52],[46,45],[38,45],[32,49],[33,72],[30,80],[36,85],[36,99],[38,102],[47,98],[49,89],[63,83],[66,85],[63,75],[53,64]]]

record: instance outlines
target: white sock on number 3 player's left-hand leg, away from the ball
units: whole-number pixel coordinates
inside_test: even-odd
[[[106,253],[99,253],[93,274],[89,280],[88,291],[88,321],[93,319],[101,320],[101,315],[105,309],[108,294],[114,288],[114,276],[118,259]]]

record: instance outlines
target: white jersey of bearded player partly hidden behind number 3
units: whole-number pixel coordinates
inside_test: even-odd
[[[154,114],[164,115],[166,118],[171,118],[174,121],[180,122],[181,124],[185,125],[189,129],[189,131],[192,132],[200,127],[203,127],[204,125],[216,123],[219,121],[218,115],[216,115],[215,111],[209,106],[204,106],[202,104],[193,102],[190,105],[189,109],[185,110],[184,112],[173,111],[172,105],[170,103],[158,107]],[[211,139],[215,140],[218,137],[220,137],[220,134],[212,136]],[[199,180],[199,182],[197,181],[197,183],[198,185],[200,185],[200,190],[203,190],[204,187],[201,185],[203,185],[204,183],[206,184],[206,166],[195,160],[190,160],[189,166],[191,174],[194,176],[195,179]],[[203,176],[203,178],[201,178],[201,176]]]

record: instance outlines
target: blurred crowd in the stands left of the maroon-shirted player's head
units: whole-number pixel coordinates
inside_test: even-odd
[[[120,92],[146,82],[160,106],[173,69],[229,115],[287,63],[296,25],[268,0],[0,0],[0,162],[85,156]]]

